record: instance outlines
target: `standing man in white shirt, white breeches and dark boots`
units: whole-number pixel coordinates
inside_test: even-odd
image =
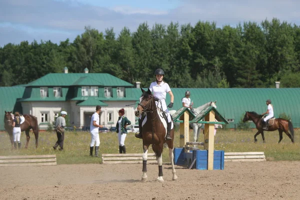
[[[96,106],[96,112],[92,114],[90,119],[90,145],[89,145],[89,155],[92,156],[92,149],[95,144],[95,156],[98,156],[100,138],[99,138],[99,127],[102,128],[103,125],[99,125],[99,113],[101,111],[101,106]]]

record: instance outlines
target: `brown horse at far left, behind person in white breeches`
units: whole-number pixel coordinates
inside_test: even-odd
[[[12,136],[12,129],[13,127],[11,126],[12,124],[12,116],[11,116],[11,112],[6,112],[5,111],[5,115],[4,115],[4,128],[5,130],[8,132],[10,141],[11,141],[11,147],[13,147],[13,136]],[[25,121],[20,125],[21,131],[25,131],[26,133],[26,145],[25,148],[28,147],[28,142],[30,139],[30,135],[29,135],[29,130],[32,129],[34,136],[35,136],[35,147],[37,148],[38,146],[38,124],[37,124],[37,119],[35,116],[31,115],[31,114],[23,114]]]

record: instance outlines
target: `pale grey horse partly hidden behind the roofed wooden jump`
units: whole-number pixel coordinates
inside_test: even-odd
[[[198,113],[200,113],[205,107],[208,107],[208,106],[213,106],[214,108],[216,108],[215,103],[216,103],[216,100],[214,102],[210,101],[203,105],[200,105],[199,107],[194,109],[194,114],[198,115]],[[173,115],[176,112],[176,110],[169,110],[169,112],[171,115]],[[180,124],[179,122],[174,122],[174,125],[176,127],[179,127],[179,124]],[[198,141],[200,132],[201,132],[201,126],[202,126],[202,123],[191,123],[191,127],[193,129],[193,141]]]

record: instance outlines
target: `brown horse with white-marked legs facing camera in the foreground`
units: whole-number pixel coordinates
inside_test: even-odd
[[[148,147],[151,144],[153,151],[156,155],[156,160],[158,163],[158,178],[157,180],[163,181],[162,174],[162,149],[163,144],[166,143],[169,148],[169,158],[172,165],[173,180],[177,179],[175,174],[175,167],[173,161],[173,139],[174,139],[174,128],[171,129],[170,135],[171,140],[165,140],[166,135],[166,121],[163,118],[162,111],[156,107],[154,97],[151,91],[145,91],[141,88],[143,92],[139,98],[139,103],[136,107],[135,116],[143,115],[144,119],[142,121],[142,145],[143,145],[143,155],[142,155],[142,181],[147,181],[147,152]],[[145,122],[144,122],[145,121]]]

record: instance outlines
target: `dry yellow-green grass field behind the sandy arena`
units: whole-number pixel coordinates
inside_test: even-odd
[[[222,130],[218,129],[214,138],[214,148],[224,150],[225,152],[239,151],[264,151],[267,160],[300,160],[300,141],[297,140],[300,130],[295,129],[292,144],[290,139],[283,133],[283,139],[278,144],[278,131],[265,132],[265,143],[262,143],[261,135],[258,135],[257,143],[254,143],[254,134],[256,130]],[[21,133],[21,149],[11,150],[11,144],[8,134],[0,132],[0,155],[40,155],[56,154],[57,164],[75,164],[75,163],[101,163],[100,157],[89,156],[89,132],[65,132],[64,150],[54,150],[52,146],[57,140],[54,131],[39,133],[39,145],[35,149],[34,134],[30,133],[30,141],[27,149],[24,149],[26,141],[25,133]],[[203,140],[200,135],[199,140]],[[190,131],[190,141],[192,141],[192,130]],[[127,134],[125,140],[127,153],[142,153],[142,140],[135,138],[134,133]],[[174,146],[179,147],[179,132],[175,132]],[[150,148],[149,152],[152,152]],[[100,133],[99,153],[118,153],[117,133]],[[168,150],[163,151],[163,162],[168,162]]]

